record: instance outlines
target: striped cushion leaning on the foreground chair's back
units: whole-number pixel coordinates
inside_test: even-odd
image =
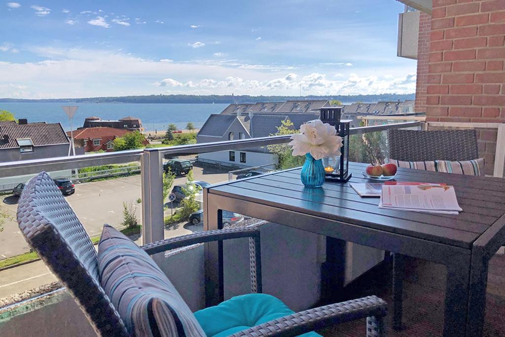
[[[105,293],[135,336],[205,336],[167,276],[123,233],[105,225],[98,243]]]

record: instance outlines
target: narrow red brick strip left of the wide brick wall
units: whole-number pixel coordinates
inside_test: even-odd
[[[415,112],[426,111],[426,89],[428,87],[428,58],[430,56],[431,16],[420,13],[419,43],[417,47],[417,82]]]

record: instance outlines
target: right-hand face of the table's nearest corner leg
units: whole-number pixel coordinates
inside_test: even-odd
[[[486,310],[486,287],[489,261],[474,249],[470,271],[470,295],[468,300],[467,336],[482,336]]]

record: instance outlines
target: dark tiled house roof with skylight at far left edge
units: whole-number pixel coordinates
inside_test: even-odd
[[[5,135],[8,135],[6,139]],[[0,125],[0,149],[19,148],[16,139],[29,138],[34,147],[68,144],[70,141],[60,123],[3,123]]]

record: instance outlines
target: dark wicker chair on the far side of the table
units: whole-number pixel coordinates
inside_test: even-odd
[[[407,162],[479,158],[477,134],[472,130],[387,130],[389,158]],[[402,288],[405,257],[393,254],[393,328],[402,327]]]

